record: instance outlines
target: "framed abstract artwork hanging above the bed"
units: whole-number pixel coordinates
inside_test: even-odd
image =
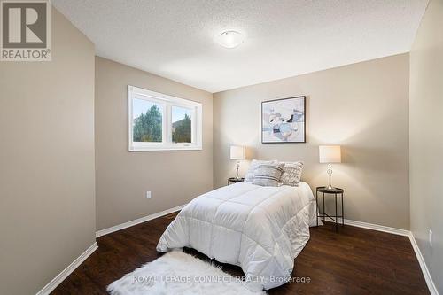
[[[261,143],[306,143],[306,97],[261,102]]]

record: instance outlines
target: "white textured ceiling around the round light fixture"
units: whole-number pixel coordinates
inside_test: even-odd
[[[427,2],[52,1],[98,56],[210,92],[407,52]],[[214,43],[229,29],[245,43]]]

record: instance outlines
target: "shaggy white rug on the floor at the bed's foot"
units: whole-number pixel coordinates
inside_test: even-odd
[[[112,295],[183,294],[183,295],[265,295],[251,291],[239,277],[183,252],[168,252],[132,273],[111,283]]]

